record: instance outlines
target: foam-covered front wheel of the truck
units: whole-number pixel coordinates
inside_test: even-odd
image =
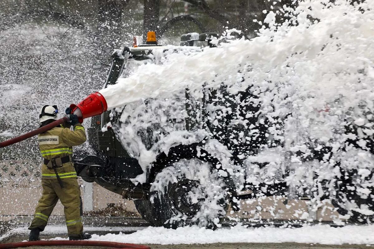
[[[198,225],[215,229],[226,215],[229,193],[223,177],[209,162],[180,161],[156,175],[149,194],[154,225],[177,228]]]

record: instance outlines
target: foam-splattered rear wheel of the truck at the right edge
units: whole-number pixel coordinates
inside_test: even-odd
[[[337,181],[332,205],[346,218],[347,223],[368,224],[374,222],[373,171],[367,177],[360,177],[357,170],[341,171]],[[361,181],[358,180],[362,178]],[[361,183],[360,183],[361,182]]]

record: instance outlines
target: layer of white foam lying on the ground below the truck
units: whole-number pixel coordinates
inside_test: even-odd
[[[139,244],[207,244],[207,243],[319,243],[326,245],[374,244],[374,225],[305,226],[301,228],[246,228],[237,225],[215,231],[199,227],[180,227],[176,230],[148,227],[132,234],[93,235],[91,240]]]

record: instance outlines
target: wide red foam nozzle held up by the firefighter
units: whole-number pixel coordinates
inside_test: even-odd
[[[101,93],[91,93],[86,99],[82,100],[78,105],[71,104],[70,108],[72,113],[78,116],[79,122],[82,123],[83,119],[95,115],[99,115],[107,111],[107,101]]]

